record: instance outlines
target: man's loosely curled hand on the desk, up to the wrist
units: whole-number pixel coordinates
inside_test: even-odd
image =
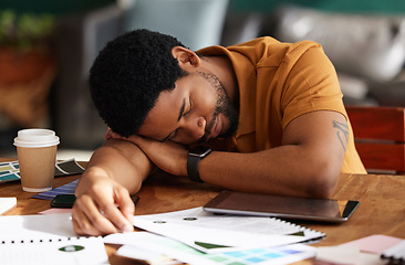
[[[128,190],[100,168],[86,170],[77,184],[72,221],[80,235],[104,235],[134,230],[135,211]]]

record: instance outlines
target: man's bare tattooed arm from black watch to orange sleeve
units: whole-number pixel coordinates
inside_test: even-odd
[[[338,184],[347,144],[333,121],[346,124],[335,112],[301,115],[285,127],[281,146],[251,153],[212,152],[200,161],[200,177],[232,190],[328,198]]]

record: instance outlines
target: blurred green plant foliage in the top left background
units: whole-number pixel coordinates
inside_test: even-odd
[[[48,49],[54,30],[54,18],[50,14],[0,11],[0,47],[21,51]]]

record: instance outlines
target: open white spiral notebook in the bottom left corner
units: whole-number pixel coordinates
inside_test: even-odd
[[[0,216],[0,264],[108,264],[102,237],[77,237],[71,214]]]

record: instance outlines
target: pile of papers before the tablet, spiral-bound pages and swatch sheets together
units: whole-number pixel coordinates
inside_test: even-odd
[[[216,215],[202,208],[137,215],[134,225],[159,235],[136,232],[108,235],[104,241],[124,244],[118,255],[149,264],[173,264],[167,256],[194,265],[289,264],[315,255],[314,247],[295,243],[324,236],[279,219]]]

